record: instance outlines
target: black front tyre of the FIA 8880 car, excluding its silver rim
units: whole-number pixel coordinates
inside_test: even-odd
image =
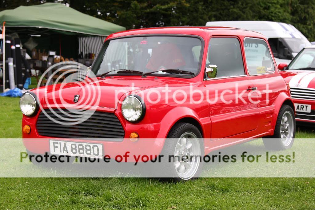
[[[196,170],[196,173],[190,178],[183,179],[177,174],[174,162],[173,161],[169,162],[168,157],[174,156],[174,151],[175,151],[177,142],[179,138],[182,136],[182,134],[186,132],[191,132],[194,135],[196,135],[196,137],[198,138],[201,155],[200,157],[198,157],[199,164],[198,164],[198,169]],[[157,167],[158,168],[157,170],[159,170],[159,173],[162,173],[162,176],[165,173],[167,173],[168,175],[170,174],[170,176],[167,178],[165,177],[160,178],[160,180],[168,181],[168,182],[178,182],[182,180],[186,181],[186,180],[198,178],[203,168],[203,162],[200,162],[199,158],[202,158],[204,155],[204,145],[203,145],[203,139],[202,139],[202,135],[200,131],[198,130],[198,128],[196,128],[194,125],[190,123],[186,123],[186,122],[176,123],[173,126],[173,128],[171,128],[171,130],[169,131],[167,140],[164,143],[164,147],[161,154],[163,154],[164,157],[166,157],[166,159],[164,159],[164,161],[161,162],[160,166]]]

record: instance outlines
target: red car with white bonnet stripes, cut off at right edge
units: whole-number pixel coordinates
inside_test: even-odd
[[[278,69],[289,83],[296,121],[315,123],[315,46],[303,48],[289,65],[281,63]]]

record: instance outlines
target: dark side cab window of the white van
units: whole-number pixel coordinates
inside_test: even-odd
[[[281,38],[269,38],[268,43],[275,58],[285,60],[291,60],[293,58],[289,48]]]

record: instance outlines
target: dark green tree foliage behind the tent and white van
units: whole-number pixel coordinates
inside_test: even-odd
[[[4,0],[0,10],[53,0]],[[207,21],[269,20],[294,25],[315,40],[315,0],[61,0],[80,12],[125,26],[204,26]],[[79,20],[78,20],[79,21]]]

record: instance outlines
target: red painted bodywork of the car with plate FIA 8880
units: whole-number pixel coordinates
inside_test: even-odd
[[[249,75],[245,59],[244,38],[258,38],[268,43],[266,38],[260,33],[223,27],[161,27],[114,33],[108,36],[105,42],[114,38],[146,34],[198,36],[202,40],[203,46],[208,46],[209,40],[212,37],[237,38],[241,46],[245,75],[204,80],[208,48],[203,47],[201,51],[202,63],[200,71],[192,78],[158,77],[151,75],[148,75],[146,78],[137,75],[117,75],[115,77],[98,78],[99,82],[87,83],[83,88],[89,88],[89,86],[93,85],[100,86],[101,96],[103,97],[100,99],[100,104],[93,107],[93,109],[114,114],[123,127],[124,139],[119,142],[100,142],[83,139],[76,139],[75,141],[101,143],[104,148],[104,154],[110,156],[124,153],[127,150],[131,152],[130,155],[133,153],[137,155],[158,155],[163,149],[164,138],[167,137],[175,123],[189,122],[200,130],[203,138],[211,138],[211,140],[205,140],[204,142],[204,153],[208,154],[212,150],[246,142],[252,138],[272,135],[280,107],[283,104],[287,104],[294,109],[287,83],[284,81],[283,77],[281,77],[273,57],[272,61],[275,65],[275,71],[273,73],[255,76]],[[268,48],[270,50],[269,45]],[[236,82],[239,84],[239,91],[253,87],[257,87],[258,90],[264,89],[266,84],[269,84],[269,89],[272,92],[269,94],[268,99],[266,98],[266,94],[262,93],[259,98],[261,102],[257,104],[250,103],[249,101],[246,101],[246,104],[237,104],[235,100],[232,99],[234,96],[230,93],[226,93],[225,96],[231,98],[232,103],[225,104],[219,100],[212,105],[205,100],[200,104],[185,102],[179,105],[174,102],[174,99],[169,99],[166,103],[165,98],[163,98],[165,95],[162,95],[160,103],[152,104],[146,100],[144,101],[146,114],[140,122],[136,123],[128,122],[122,115],[121,107],[114,103],[114,90],[119,88],[128,90],[128,93],[118,95],[118,100],[122,101],[126,95],[146,95],[148,90],[155,89],[159,91],[160,88],[163,88],[166,84],[169,89],[173,91],[180,87],[188,93],[190,84],[192,84],[194,90],[200,90],[203,94],[206,94],[206,90],[211,91],[213,89],[217,89],[220,94],[226,88],[233,89],[233,85]],[[134,90],[131,89],[132,83],[134,83],[136,87]],[[58,91],[60,91],[58,89],[59,87],[60,86],[57,85],[53,89],[51,86],[48,86],[34,89],[31,92],[37,94],[38,101],[44,109],[47,107],[54,108],[57,107],[57,105],[60,108],[71,108],[75,104],[73,102],[73,96],[80,93],[81,87],[78,83],[67,84],[63,87],[60,98],[54,101],[49,97],[49,94],[52,94],[52,92],[58,93]],[[42,97],[44,92],[48,95],[47,101]],[[249,94],[249,92],[250,90],[247,91],[245,95]],[[154,94],[152,94],[151,99],[154,100],[154,97]],[[180,95],[178,97],[180,98]],[[200,95],[198,94],[194,94],[192,97],[196,101],[200,99]],[[67,105],[62,104],[61,98],[66,101]],[[23,115],[22,128],[25,125],[29,125],[31,128],[30,133],[23,133],[23,143],[27,150],[37,154],[44,154],[45,152],[49,152],[49,139],[65,141],[69,139],[40,135],[36,125],[40,113],[41,110],[39,110],[35,116],[29,117]],[[132,142],[129,140],[129,134],[132,132],[139,134],[138,141]],[[43,138],[43,140],[38,141],[35,138]],[[144,138],[152,138],[155,140],[142,140]],[[235,138],[235,141],[231,141],[231,138]]]

